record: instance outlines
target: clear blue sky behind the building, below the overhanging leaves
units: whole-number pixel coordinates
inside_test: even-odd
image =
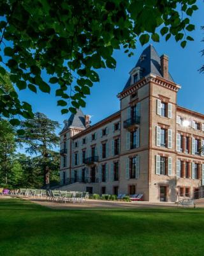
[[[154,45],[159,55],[164,53],[169,56],[171,76],[176,83],[182,86],[178,93],[178,104],[204,113],[204,74],[198,72],[198,69],[204,63],[204,56],[201,57],[200,53],[204,49],[204,42],[201,42],[204,31],[200,29],[200,26],[204,26],[203,1],[200,0],[198,3],[199,10],[191,18],[191,23],[196,25],[195,31],[191,33],[194,41],[188,42],[185,49],[182,49],[180,43],[175,42],[173,38],[168,42],[161,38],[159,43],[150,43]],[[122,91],[128,80],[129,71],[135,66],[140,54],[147,46],[148,44],[142,47],[138,42],[134,51],[135,55],[131,58],[122,49],[115,51],[114,57],[117,61],[115,70],[106,68],[98,71],[100,82],[94,84],[91,88],[91,95],[88,95],[86,99],[87,105],[82,109],[85,114],[92,115],[92,124],[119,110],[120,102],[116,95]],[[48,118],[57,120],[61,125],[63,120],[69,116],[69,114],[61,115],[61,108],[57,107],[58,98],[55,97],[54,90],[50,95],[40,92],[35,94],[29,90],[21,91],[19,95],[21,100],[32,104],[34,112],[45,113]]]

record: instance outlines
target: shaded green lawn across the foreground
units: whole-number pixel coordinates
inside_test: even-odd
[[[0,200],[0,255],[203,255],[203,209],[54,210]]]

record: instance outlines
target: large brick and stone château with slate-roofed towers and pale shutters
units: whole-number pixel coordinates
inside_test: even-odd
[[[204,115],[177,105],[168,56],[152,45],[97,124],[78,109],[61,131],[61,184],[98,194],[142,193],[150,202],[194,198],[204,184]]]

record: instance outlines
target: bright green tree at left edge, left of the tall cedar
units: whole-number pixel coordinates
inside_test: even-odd
[[[0,120],[0,182],[8,184],[12,157],[15,152],[15,132],[6,120]]]

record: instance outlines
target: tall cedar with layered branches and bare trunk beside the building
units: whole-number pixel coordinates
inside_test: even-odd
[[[50,170],[52,170],[50,166],[55,158],[59,158],[59,153],[53,150],[59,144],[59,136],[55,134],[59,123],[48,119],[42,113],[35,113],[34,118],[23,121],[21,127],[25,134],[19,136],[19,142],[21,145],[24,143],[28,146],[26,152],[37,155],[36,162],[43,170],[43,184],[48,186]]]

